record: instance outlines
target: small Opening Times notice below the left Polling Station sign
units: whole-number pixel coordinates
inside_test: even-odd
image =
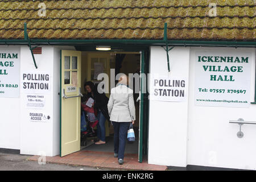
[[[26,107],[30,109],[45,109],[46,100],[44,95],[27,94]]]

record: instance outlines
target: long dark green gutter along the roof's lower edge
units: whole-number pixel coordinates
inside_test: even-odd
[[[138,44],[144,46],[164,46],[165,40],[134,40],[134,39],[31,39],[32,44],[70,45],[70,44]],[[256,47],[256,42],[229,42],[229,41],[193,41],[167,40],[170,46],[211,46],[211,47]],[[24,39],[0,39],[0,44],[25,44]]]

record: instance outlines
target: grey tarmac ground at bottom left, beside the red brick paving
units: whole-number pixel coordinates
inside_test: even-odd
[[[38,164],[37,161],[27,160],[30,157],[0,152],[0,171],[102,171],[99,168],[69,164]]]

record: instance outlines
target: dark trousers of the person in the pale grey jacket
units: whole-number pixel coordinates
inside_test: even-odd
[[[118,159],[123,159],[125,155],[125,143],[127,138],[127,131],[130,126],[130,122],[114,122],[114,152],[118,154]]]

